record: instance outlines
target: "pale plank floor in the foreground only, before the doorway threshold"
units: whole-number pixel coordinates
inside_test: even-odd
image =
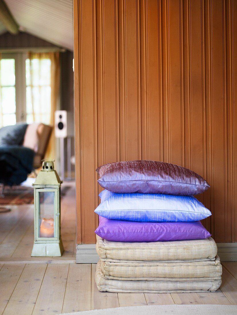
[[[61,314],[119,306],[237,305],[237,262],[223,263],[223,283],[213,293],[99,292],[95,264],[0,265],[0,314]]]

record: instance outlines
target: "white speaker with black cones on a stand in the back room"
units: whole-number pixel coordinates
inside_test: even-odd
[[[72,113],[67,111],[55,111],[55,137],[67,138],[73,135],[73,117]]]

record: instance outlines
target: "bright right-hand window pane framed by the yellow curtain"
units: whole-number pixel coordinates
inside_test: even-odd
[[[51,60],[26,60],[26,121],[50,124]]]

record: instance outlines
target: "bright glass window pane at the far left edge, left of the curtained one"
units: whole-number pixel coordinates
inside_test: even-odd
[[[15,124],[15,59],[0,61],[0,104],[0,126]]]

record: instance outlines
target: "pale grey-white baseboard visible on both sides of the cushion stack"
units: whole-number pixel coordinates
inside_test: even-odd
[[[217,243],[221,261],[237,261],[237,243]],[[78,244],[76,248],[77,264],[95,264],[99,260],[95,244]]]

